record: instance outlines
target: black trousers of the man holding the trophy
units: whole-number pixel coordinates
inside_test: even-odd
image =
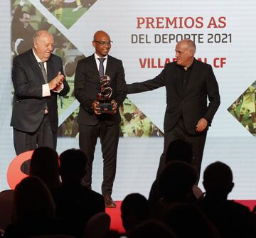
[[[109,126],[105,121],[100,121],[96,126],[79,125],[79,146],[87,155],[86,174],[82,179],[82,185],[91,189],[92,162],[97,137],[100,137],[103,158],[102,195],[111,195],[117,167],[119,124]]]

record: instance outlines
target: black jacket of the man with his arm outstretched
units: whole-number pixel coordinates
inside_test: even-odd
[[[183,94],[180,83],[182,75],[178,67],[176,62],[166,64],[164,70],[154,79],[127,85],[127,93],[145,92],[165,86],[167,106],[164,130],[171,130],[182,115],[188,133],[196,134],[199,119],[203,117],[210,125],[220,105],[218,83],[212,67],[194,59],[186,92]]]

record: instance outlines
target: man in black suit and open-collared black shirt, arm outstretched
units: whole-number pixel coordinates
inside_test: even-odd
[[[212,67],[194,58],[196,45],[192,40],[181,40],[175,51],[176,62],[166,64],[164,70],[152,80],[127,85],[127,93],[166,87],[164,152],[158,174],[164,167],[166,149],[176,139],[193,145],[192,164],[200,174],[208,126],[220,105],[218,83]]]

